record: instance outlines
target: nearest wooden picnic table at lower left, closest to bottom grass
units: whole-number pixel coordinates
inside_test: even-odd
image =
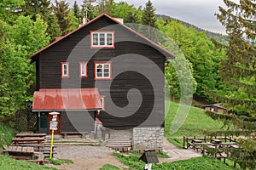
[[[33,147],[9,146],[4,152],[8,152],[9,156],[13,156],[16,159],[31,159],[35,150]]]

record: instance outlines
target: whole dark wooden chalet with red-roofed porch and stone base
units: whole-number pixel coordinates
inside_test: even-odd
[[[57,111],[61,114],[55,133],[83,132],[102,139],[127,138],[132,140],[134,149],[161,149],[164,76],[152,77],[159,82],[157,88],[153,88],[148,78],[132,66],[149,73],[153,73],[155,67],[129,57],[132,54],[153,61],[163,73],[166,60],[174,58],[166,49],[108,14],[97,16],[32,54],[37,77],[32,111],[38,114],[38,132],[49,133],[52,118],[49,112]],[[120,55],[126,56],[121,65],[114,60]],[[115,72],[123,69],[127,71]],[[111,105],[120,109],[128,105],[127,93],[132,88],[137,88],[142,95],[139,109],[132,115],[122,110],[118,116],[113,115]],[[135,92],[129,93],[129,99],[136,100],[136,96]],[[147,120],[149,115],[151,118]],[[154,135],[147,138],[159,144],[148,144],[147,139],[141,138],[150,131]],[[137,141],[139,139],[143,141]]]

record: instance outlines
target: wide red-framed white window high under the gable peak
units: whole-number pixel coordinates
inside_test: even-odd
[[[90,46],[92,48],[114,48],[113,31],[91,31]]]

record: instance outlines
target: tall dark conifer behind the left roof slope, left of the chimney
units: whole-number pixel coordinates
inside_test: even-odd
[[[54,13],[57,17],[59,26],[61,28],[61,35],[65,35],[71,26],[71,19],[69,16],[69,3],[66,0],[57,1],[53,5]]]

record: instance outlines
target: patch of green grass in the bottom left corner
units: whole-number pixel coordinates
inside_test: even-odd
[[[56,170],[54,167],[44,167],[33,162],[15,160],[9,156],[0,155],[0,169],[19,169],[19,170]]]

